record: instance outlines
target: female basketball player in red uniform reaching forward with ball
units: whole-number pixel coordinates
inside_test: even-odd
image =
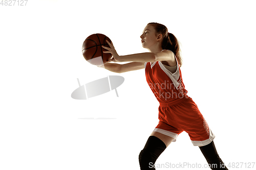
[[[102,46],[113,58],[108,62],[126,62],[127,64],[106,63],[104,68],[113,72],[126,72],[145,68],[146,81],[159,101],[159,124],[147,139],[139,154],[141,169],[155,169],[154,163],[160,154],[177,136],[185,131],[191,142],[198,146],[211,169],[227,169],[220,159],[214,144],[215,135],[211,132],[195,102],[187,96],[182,81],[179,42],[168,33],[167,28],[151,22],[140,36],[141,43],[149,53],[119,56],[113,46]]]

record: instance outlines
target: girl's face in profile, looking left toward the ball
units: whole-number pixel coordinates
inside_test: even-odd
[[[147,49],[152,48],[152,46],[155,46],[158,42],[158,38],[156,36],[156,30],[151,25],[147,25],[145,27],[140,38],[141,38],[142,47]]]

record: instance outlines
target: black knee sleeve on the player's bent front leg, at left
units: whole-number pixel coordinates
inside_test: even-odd
[[[166,145],[161,139],[156,136],[150,136],[144,149],[139,154],[140,169],[155,169],[154,164],[165,149]]]

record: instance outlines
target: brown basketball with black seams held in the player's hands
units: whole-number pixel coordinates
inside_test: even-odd
[[[104,34],[92,34],[83,41],[82,55],[89,63],[93,65],[105,64],[107,60],[112,58],[112,54],[103,53],[105,50],[101,46],[110,47],[106,42],[108,40],[111,43],[109,37]]]

